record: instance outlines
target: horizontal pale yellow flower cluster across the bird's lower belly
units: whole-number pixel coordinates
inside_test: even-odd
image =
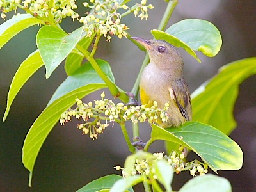
[[[60,124],[63,125],[71,120],[72,116],[75,116],[78,120],[82,120],[81,124],[77,124],[77,128],[83,131],[83,134],[89,134],[90,138],[94,140],[97,135],[102,133],[106,127],[109,126],[109,122],[122,123],[127,120],[132,121],[134,124],[138,122],[162,122],[168,120],[166,110],[169,104],[166,103],[164,109],[157,108],[157,102],[150,108],[146,105],[142,106],[125,106],[123,103],[115,104],[110,99],[104,99],[105,94],[100,95],[101,100],[94,100],[83,103],[80,99],[76,99],[77,107],[75,109],[68,109],[62,113],[60,118]]]

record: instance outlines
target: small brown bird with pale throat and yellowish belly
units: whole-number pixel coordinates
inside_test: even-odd
[[[151,107],[156,101],[158,108],[163,109],[169,102],[166,111],[168,120],[157,121],[159,126],[179,127],[191,120],[192,108],[188,85],[183,79],[182,57],[173,47],[164,40],[145,40],[132,37],[147,49],[150,63],[144,68],[140,79],[141,104]]]

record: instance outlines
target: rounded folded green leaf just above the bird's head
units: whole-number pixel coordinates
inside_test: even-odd
[[[185,19],[166,29],[166,32],[152,30],[156,39],[163,39],[175,47],[182,47],[199,60],[194,51],[213,57],[222,45],[220,31],[211,23],[201,19]]]

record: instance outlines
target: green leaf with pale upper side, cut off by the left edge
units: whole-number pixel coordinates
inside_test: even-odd
[[[7,20],[0,25],[0,49],[20,31],[30,26],[43,23],[42,20],[36,19],[30,14],[13,16],[12,19]]]

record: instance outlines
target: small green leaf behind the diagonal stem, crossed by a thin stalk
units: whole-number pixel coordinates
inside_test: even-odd
[[[78,42],[78,45],[81,45],[81,47],[87,50],[92,44],[93,39],[94,33],[91,38],[88,38],[86,37],[86,33],[84,32],[81,36],[81,40]],[[81,56],[78,53],[71,52],[70,54],[68,54],[65,61],[65,70],[68,76],[72,75],[77,70],[77,68],[81,66],[83,59],[83,55]]]

